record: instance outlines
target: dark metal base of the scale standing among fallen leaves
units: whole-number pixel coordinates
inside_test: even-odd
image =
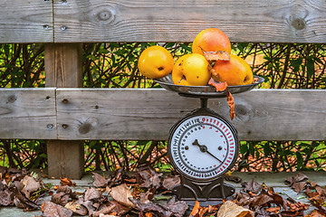
[[[181,176],[181,183],[173,188],[179,200],[193,207],[198,201],[200,206],[216,205],[235,193],[235,187],[224,183],[224,176],[213,181],[192,181]]]

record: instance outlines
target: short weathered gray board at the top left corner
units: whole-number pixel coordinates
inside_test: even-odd
[[[0,43],[53,42],[53,3],[0,1]]]

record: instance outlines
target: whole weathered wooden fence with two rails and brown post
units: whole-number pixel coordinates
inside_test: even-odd
[[[326,42],[320,0],[12,0],[1,43],[45,43],[45,89],[0,89],[0,138],[48,140],[49,175],[82,176],[83,139],[159,139],[199,106],[167,90],[82,89],[82,42],[192,42],[208,27],[232,42]],[[325,90],[235,95],[241,140],[324,140]],[[228,117],[225,99],[209,107]]]

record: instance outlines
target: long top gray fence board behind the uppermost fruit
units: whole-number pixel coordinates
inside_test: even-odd
[[[54,42],[192,42],[216,27],[232,42],[326,42],[321,0],[53,0]]]

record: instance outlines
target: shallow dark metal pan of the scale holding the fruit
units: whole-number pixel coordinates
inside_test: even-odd
[[[228,86],[224,91],[216,91],[216,88],[213,86],[184,86],[174,84],[172,81],[171,74],[168,76],[154,80],[162,88],[166,90],[171,90],[177,92],[181,96],[185,97],[197,97],[197,98],[224,98],[226,97],[226,92],[230,91],[232,94],[241,93],[248,90],[253,90],[258,84],[264,82],[264,78],[254,75],[254,78],[258,80],[252,84],[248,85],[239,85],[239,86]]]

